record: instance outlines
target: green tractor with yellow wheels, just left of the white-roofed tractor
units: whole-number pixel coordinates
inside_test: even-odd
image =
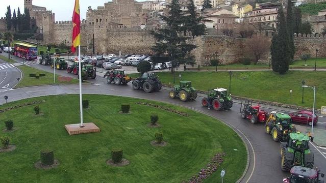
[[[195,100],[197,98],[197,91],[191,87],[191,81],[180,81],[180,85],[174,85],[169,92],[169,97],[174,99],[179,97],[181,101]]]

